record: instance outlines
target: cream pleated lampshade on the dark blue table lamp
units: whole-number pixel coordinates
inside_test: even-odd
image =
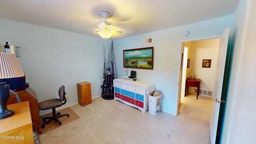
[[[15,54],[0,52],[0,79],[25,76]]]

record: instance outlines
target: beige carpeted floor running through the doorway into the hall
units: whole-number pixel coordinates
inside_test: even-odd
[[[211,98],[187,95],[178,116],[102,98],[70,108],[80,118],[41,134],[41,144],[210,144]]]

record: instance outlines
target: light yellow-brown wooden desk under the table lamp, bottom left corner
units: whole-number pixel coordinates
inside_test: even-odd
[[[0,120],[0,144],[34,144],[29,103],[7,105],[15,114]]]

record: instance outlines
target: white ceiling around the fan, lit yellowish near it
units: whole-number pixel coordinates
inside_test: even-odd
[[[100,11],[112,14],[111,39],[234,14],[239,0],[0,0],[0,18],[100,37]]]

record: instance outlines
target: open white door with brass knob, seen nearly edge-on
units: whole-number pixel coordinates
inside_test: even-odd
[[[216,78],[215,78],[214,92],[212,96],[213,98],[212,114],[211,114],[211,121],[210,121],[211,144],[215,144],[215,141],[216,141],[218,118],[220,113],[220,98],[222,93],[222,84],[223,84],[226,54],[227,54],[227,48],[228,48],[228,34],[229,34],[229,28],[226,28],[223,34],[220,36],[220,47],[219,47],[219,53],[218,53]]]

